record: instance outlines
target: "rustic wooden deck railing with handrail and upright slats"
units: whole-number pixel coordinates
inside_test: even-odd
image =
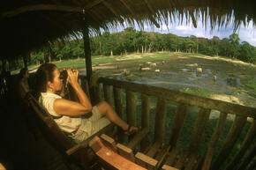
[[[80,77],[82,81],[86,78]],[[81,81],[81,82],[82,82]],[[83,83],[84,84],[84,83]],[[86,85],[86,84],[84,84]],[[87,87],[83,87],[88,89]],[[98,78],[96,84],[93,85],[94,93],[90,94],[96,102],[108,101],[120,117],[124,116],[126,108],[126,117],[129,124],[138,126],[141,125],[139,136],[133,137],[132,141],[127,144],[127,147],[134,149],[140,143],[140,152],[147,156],[156,159],[158,165],[163,164],[175,166],[177,169],[252,169],[255,166],[255,135],[256,135],[256,108],[245,107],[221,100],[212,100],[192,94],[168,90],[162,87],[150,85],[141,85],[131,82],[124,82],[111,78]],[[137,94],[140,94],[140,100],[137,99]],[[124,97],[125,96],[125,97]],[[150,113],[152,101],[150,99],[156,97],[156,109],[154,118],[154,133],[150,131]],[[137,101],[141,101],[141,113],[137,113]],[[170,102],[176,102],[177,107],[175,113],[168,113]],[[124,106],[125,104],[125,106]],[[194,127],[190,137],[189,144],[186,149],[180,148],[180,136],[184,127],[186,116],[191,114],[192,106],[199,107],[199,112],[195,119]],[[200,144],[203,143],[203,135],[205,133],[209,115],[212,111],[219,111],[218,121],[212,133],[207,133],[210,136],[207,141],[207,148],[199,157]],[[136,122],[137,114],[141,116],[141,122]],[[174,115],[172,122],[167,122],[167,115]],[[223,129],[227,123],[227,117],[233,115],[235,118],[229,129],[224,141],[220,141],[223,134]],[[248,121],[249,120],[249,121]],[[140,123],[140,124],[139,124]],[[171,124],[169,134],[166,134],[166,123]],[[245,125],[250,126],[243,138],[241,132],[245,129]],[[119,140],[123,140],[119,132]],[[148,134],[154,134],[153,143],[148,141]],[[163,145],[163,139],[169,136],[168,144]],[[242,139],[241,139],[242,137]],[[237,139],[242,140],[239,149],[230,158],[230,152],[235,147]],[[216,146],[221,143],[221,149]],[[217,152],[217,154],[215,154]],[[233,152],[232,152],[233,153]],[[163,166],[162,166],[163,168]],[[164,169],[164,168],[163,168]]]

